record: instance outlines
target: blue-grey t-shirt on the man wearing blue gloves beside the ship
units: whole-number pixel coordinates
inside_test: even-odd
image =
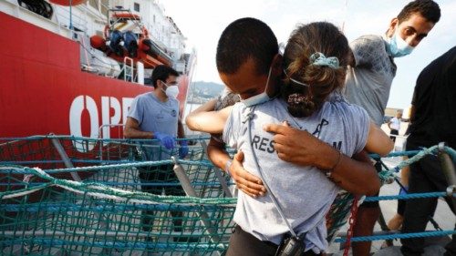
[[[161,132],[172,137],[177,137],[177,123],[179,118],[179,101],[175,98],[168,98],[162,102],[153,93],[144,93],[135,97],[131,103],[128,114],[140,124],[140,130]],[[152,145],[159,146],[159,142],[152,142]],[[161,150],[161,154],[159,154]],[[170,159],[171,155],[164,147],[153,147],[147,155],[148,160]]]

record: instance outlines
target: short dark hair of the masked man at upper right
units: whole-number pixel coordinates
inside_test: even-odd
[[[419,13],[426,20],[436,24],[440,20],[440,7],[432,0],[415,0],[400,11],[398,15],[399,24],[409,19],[410,15]]]

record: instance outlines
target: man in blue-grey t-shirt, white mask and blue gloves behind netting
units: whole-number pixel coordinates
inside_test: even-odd
[[[138,160],[165,160],[170,159],[175,146],[175,138],[184,138],[183,126],[179,116],[179,94],[177,86],[179,73],[171,67],[157,66],[152,72],[152,92],[135,97],[131,104],[127,123],[125,124],[125,138],[154,138],[140,148]],[[187,141],[181,140],[179,155],[184,158],[188,153]],[[141,183],[179,183],[172,164],[153,167],[140,167]],[[185,196],[181,186],[141,185],[144,192],[161,195]],[[181,212],[171,211],[175,231],[181,231]],[[150,231],[153,225],[154,212],[146,210],[142,213],[142,229]]]

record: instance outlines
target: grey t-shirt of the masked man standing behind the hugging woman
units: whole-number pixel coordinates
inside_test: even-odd
[[[366,109],[369,117],[381,126],[389,89],[396,76],[396,64],[389,56],[387,42],[381,36],[361,36],[350,46],[357,65],[348,68],[347,99]]]

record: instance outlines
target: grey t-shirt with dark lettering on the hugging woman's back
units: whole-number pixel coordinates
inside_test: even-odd
[[[302,167],[279,159],[272,140],[274,134],[265,132],[263,127],[287,120],[290,126],[307,130],[351,156],[366,145],[368,114],[338,97],[326,101],[311,117],[294,118],[288,113],[285,101],[275,98],[254,107],[254,117],[250,122],[252,143],[248,143],[248,122],[245,120],[250,111],[251,108],[246,108],[242,102],[234,105],[223,130],[223,140],[228,146],[244,151],[244,168],[261,177],[254,163],[253,146],[264,181],[287,220],[298,234],[307,232],[306,248],[316,252],[326,250],[325,215],[339,188],[315,167]],[[243,230],[262,241],[278,244],[283,234],[289,231],[269,196],[254,199],[239,191],[233,218]]]

